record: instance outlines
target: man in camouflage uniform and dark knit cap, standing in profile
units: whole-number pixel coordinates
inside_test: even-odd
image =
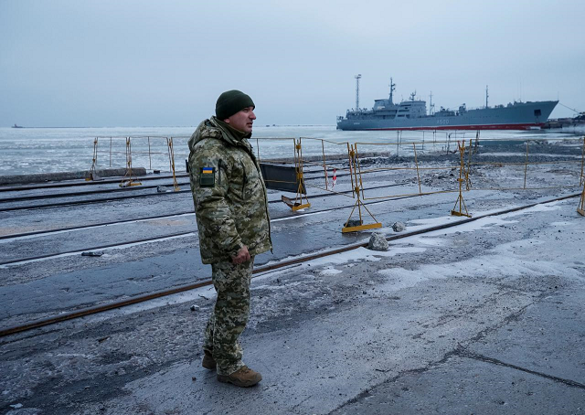
[[[261,381],[241,361],[238,338],[250,315],[254,256],[271,250],[266,186],[248,138],[255,105],[239,90],[222,93],[216,116],[189,139],[189,170],[203,263],[218,298],[205,333],[203,367],[240,387]]]

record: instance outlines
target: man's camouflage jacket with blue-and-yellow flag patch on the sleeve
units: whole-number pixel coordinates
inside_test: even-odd
[[[251,145],[216,117],[189,139],[189,171],[203,263],[231,261],[272,249],[268,197]]]

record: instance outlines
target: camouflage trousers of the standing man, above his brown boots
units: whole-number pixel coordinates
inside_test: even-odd
[[[253,265],[254,257],[240,264],[211,264],[211,277],[218,298],[207,322],[203,348],[218,363],[218,375],[230,375],[244,366],[238,338],[250,317],[250,279]]]

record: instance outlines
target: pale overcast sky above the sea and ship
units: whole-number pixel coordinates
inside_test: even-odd
[[[0,0],[0,126],[186,126],[224,90],[259,124],[334,124],[415,91],[585,111],[581,0]],[[572,116],[558,105],[552,117]]]

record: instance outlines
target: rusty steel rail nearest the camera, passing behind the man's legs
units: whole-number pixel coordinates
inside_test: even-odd
[[[568,195],[568,196],[563,196],[563,197],[556,197],[553,199],[548,199],[545,201],[531,203],[531,204],[524,205],[521,207],[507,208],[504,210],[499,210],[497,212],[487,213],[485,215],[480,215],[480,216],[477,216],[474,218],[463,218],[461,220],[458,220],[458,221],[452,222],[452,223],[445,223],[445,224],[437,225],[437,226],[434,226],[431,228],[418,229],[418,230],[406,232],[406,233],[400,234],[400,235],[393,235],[393,236],[388,237],[387,240],[392,241],[392,240],[397,240],[397,239],[404,239],[404,238],[409,238],[411,236],[416,236],[416,235],[421,235],[421,234],[433,232],[435,230],[453,228],[453,227],[456,227],[459,225],[464,225],[466,223],[473,222],[473,221],[481,219],[481,218],[489,218],[489,217],[494,217],[494,216],[505,215],[507,213],[512,213],[512,212],[524,210],[527,208],[534,208],[535,206],[538,206],[538,205],[556,202],[556,201],[568,199],[571,197],[580,197],[580,195],[581,194],[579,193],[579,194],[573,194],[573,195]],[[356,250],[358,248],[365,248],[365,247],[367,247],[367,242],[354,243],[354,244],[346,245],[344,247],[337,248],[334,250],[325,250],[322,252],[317,252],[314,254],[309,254],[309,255],[305,255],[303,257],[295,258],[293,260],[281,261],[281,262],[274,263],[272,265],[259,267],[259,268],[254,269],[252,271],[252,274],[278,270],[281,268],[289,267],[291,265],[295,265],[295,264],[299,264],[299,263],[303,263],[303,262],[307,262],[307,261],[313,261],[313,260],[317,260],[320,258],[324,258],[326,256],[335,255],[337,253],[343,253],[343,252],[346,252],[349,250]],[[15,335],[17,333],[26,332],[28,330],[32,330],[35,328],[43,327],[46,325],[54,325],[57,323],[73,320],[73,319],[84,317],[84,316],[91,315],[91,314],[98,314],[98,313],[103,313],[106,311],[111,311],[114,309],[118,309],[118,308],[122,308],[122,307],[125,307],[128,305],[132,305],[135,303],[144,303],[146,301],[154,300],[156,298],[161,298],[161,297],[165,297],[165,296],[176,294],[176,293],[184,293],[186,291],[190,291],[190,290],[194,290],[194,289],[197,289],[200,287],[211,285],[212,283],[213,282],[211,280],[206,280],[206,281],[202,281],[202,282],[181,285],[181,286],[178,286],[178,287],[175,287],[172,289],[168,289],[168,290],[158,291],[155,293],[148,293],[148,294],[144,294],[144,295],[138,295],[138,296],[135,296],[133,298],[122,300],[119,302],[102,304],[102,305],[98,305],[98,306],[94,306],[94,307],[88,307],[88,308],[76,310],[74,312],[69,312],[69,313],[59,314],[59,315],[56,315],[53,317],[39,319],[39,320],[30,322],[30,323],[27,323],[25,325],[15,325],[12,327],[3,328],[0,330],[0,337],[5,337],[6,335]]]

